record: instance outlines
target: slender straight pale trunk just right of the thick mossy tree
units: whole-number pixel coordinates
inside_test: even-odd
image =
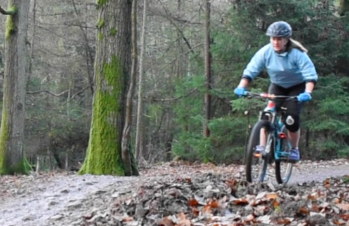
[[[139,157],[143,157],[144,153],[142,144],[143,142],[143,108],[144,108],[144,100],[143,100],[143,82],[144,82],[144,69],[143,69],[143,61],[144,54],[146,52],[146,13],[147,13],[147,4],[146,0],[143,1],[143,25],[141,30],[141,56],[139,58],[139,84],[138,84],[138,108],[137,108],[137,129],[136,129],[136,144],[134,147],[134,151],[136,152],[136,160],[139,161]]]

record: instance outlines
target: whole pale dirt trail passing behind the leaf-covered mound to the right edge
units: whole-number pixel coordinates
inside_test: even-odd
[[[103,192],[122,192],[132,189],[142,181],[155,177],[179,177],[186,174],[201,174],[217,171],[243,177],[243,166],[231,165],[166,165],[144,170],[142,177],[113,177],[72,174],[31,175],[22,177],[0,177],[0,225],[2,226],[46,226],[75,225],[72,221],[81,218],[91,208],[103,203],[93,201],[93,195]],[[293,170],[289,184],[322,181],[327,177],[349,174],[349,163],[345,160],[321,163],[299,163]],[[274,178],[269,178],[275,182]],[[87,205],[89,203],[89,206]],[[78,225],[78,224],[76,224]]]

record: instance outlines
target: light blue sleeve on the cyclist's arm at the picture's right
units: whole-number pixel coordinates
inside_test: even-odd
[[[298,51],[297,65],[300,73],[302,73],[304,77],[305,82],[317,82],[317,72],[315,70],[315,66],[310,60],[309,56],[307,56],[307,53]]]

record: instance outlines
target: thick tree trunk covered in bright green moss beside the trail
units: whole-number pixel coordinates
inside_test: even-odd
[[[89,146],[79,173],[125,175],[121,158],[131,71],[132,0],[98,0],[95,92]]]

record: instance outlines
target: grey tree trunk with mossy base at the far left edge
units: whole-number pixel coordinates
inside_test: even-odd
[[[9,0],[5,33],[4,104],[0,130],[0,173],[27,173],[23,153],[27,27],[30,0]]]

